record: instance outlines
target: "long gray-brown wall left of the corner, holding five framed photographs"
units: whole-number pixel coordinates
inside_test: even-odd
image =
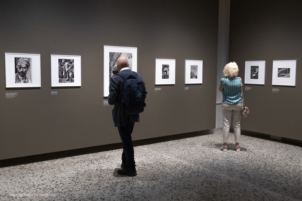
[[[148,94],[133,140],[215,128],[218,2],[2,1],[0,159],[120,142],[103,105],[104,45],[137,47]],[[40,54],[41,87],[5,88],[5,52]],[[80,88],[51,88],[51,54],[81,55]],[[155,86],[156,58],[176,59],[174,86]],[[186,59],[203,60],[201,85],[184,84]]]

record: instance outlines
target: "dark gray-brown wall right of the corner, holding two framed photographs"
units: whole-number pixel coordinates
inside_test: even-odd
[[[302,2],[240,1],[230,4],[229,61],[245,73],[245,61],[265,60],[265,85],[244,90],[250,116],[241,129],[302,140]],[[297,60],[296,86],[272,86],[273,60]],[[278,88],[279,93],[273,93]]]

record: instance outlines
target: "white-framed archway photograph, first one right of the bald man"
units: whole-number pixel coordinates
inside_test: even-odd
[[[175,59],[155,59],[155,84],[175,84]]]

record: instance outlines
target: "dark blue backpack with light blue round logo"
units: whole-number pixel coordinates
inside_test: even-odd
[[[115,75],[125,80],[121,93],[121,108],[128,115],[138,114],[146,107],[146,87],[143,80],[136,72],[126,71]]]

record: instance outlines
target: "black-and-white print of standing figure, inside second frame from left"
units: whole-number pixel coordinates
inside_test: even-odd
[[[73,59],[59,59],[59,83],[74,82],[73,73]]]

